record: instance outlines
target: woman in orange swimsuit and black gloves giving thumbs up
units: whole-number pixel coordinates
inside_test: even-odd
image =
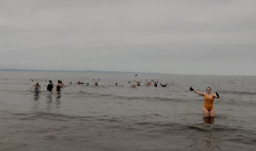
[[[205,97],[205,103],[203,106],[203,112],[204,112],[204,116],[205,117],[214,117],[215,116],[215,112],[214,112],[214,108],[213,108],[213,99],[214,98],[220,98],[219,94],[216,92],[216,94],[211,94],[211,88],[208,87],[206,88],[206,92],[207,93],[203,93],[203,92],[198,92],[197,90],[194,90],[193,88],[191,88],[190,86],[190,91],[194,91],[195,93],[199,94],[200,96],[204,96]]]

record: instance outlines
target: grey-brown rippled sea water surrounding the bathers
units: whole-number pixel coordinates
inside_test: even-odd
[[[134,75],[0,71],[0,150],[256,150],[256,76]],[[66,87],[49,92],[48,80]],[[131,88],[134,80],[141,86]],[[36,82],[40,92],[30,89]],[[203,117],[204,97],[190,86],[220,94],[214,119]]]

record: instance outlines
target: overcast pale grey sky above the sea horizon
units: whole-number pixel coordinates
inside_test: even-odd
[[[0,0],[0,68],[256,75],[256,1]]]

